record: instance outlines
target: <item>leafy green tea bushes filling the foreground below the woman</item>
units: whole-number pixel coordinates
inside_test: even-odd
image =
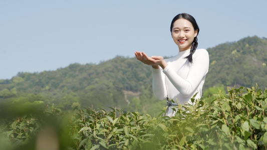
[[[244,90],[192,98],[194,105],[180,104],[171,118],[162,116],[165,108],[152,117],[118,108],[63,113],[51,107],[42,115],[3,119],[2,138],[8,147],[34,149],[44,124],[53,124],[60,149],[266,149],[267,89]]]

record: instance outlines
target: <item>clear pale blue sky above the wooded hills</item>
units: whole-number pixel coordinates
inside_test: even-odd
[[[199,25],[198,48],[267,37],[267,0],[0,0],[0,79],[117,55],[174,56],[181,12]]]

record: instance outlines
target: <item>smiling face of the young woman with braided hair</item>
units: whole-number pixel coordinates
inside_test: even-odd
[[[187,19],[179,18],[173,23],[171,36],[179,51],[190,49],[196,35],[197,30],[194,30],[192,23]]]

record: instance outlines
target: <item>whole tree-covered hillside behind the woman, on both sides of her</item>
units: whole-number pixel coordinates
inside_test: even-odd
[[[207,49],[210,67],[204,97],[227,86],[265,89],[267,39],[246,37]],[[134,55],[134,53],[133,53]],[[165,106],[152,92],[151,67],[136,58],[117,56],[100,64],[71,64],[55,71],[19,72],[0,80],[0,111],[55,104],[62,110],[78,107],[117,107],[124,111],[154,114]]]

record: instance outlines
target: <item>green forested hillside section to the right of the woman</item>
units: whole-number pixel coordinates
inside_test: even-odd
[[[213,86],[244,86],[265,89],[267,85],[267,40],[257,36],[208,48],[209,72],[204,91]],[[226,89],[225,89],[226,90]]]

